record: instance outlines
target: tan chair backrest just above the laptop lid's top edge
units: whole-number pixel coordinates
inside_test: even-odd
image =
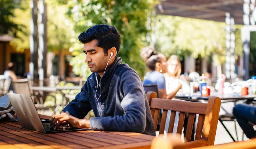
[[[12,81],[12,84],[14,87],[14,93],[32,95],[32,91],[30,90],[31,85],[29,79],[18,79]]]

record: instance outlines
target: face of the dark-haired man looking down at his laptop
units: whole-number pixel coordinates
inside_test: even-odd
[[[85,62],[91,72],[103,73],[109,57],[105,56],[103,48],[97,47],[97,40],[92,40],[84,44]]]

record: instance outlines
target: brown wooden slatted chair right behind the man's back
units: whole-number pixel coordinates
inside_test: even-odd
[[[182,134],[185,114],[189,113],[188,127],[185,135],[185,140],[187,141],[185,144],[188,145],[188,148],[214,144],[220,112],[221,101],[219,97],[210,97],[208,103],[158,99],[156,97],[157,95],[154,92],[147,93],[155,129],[160,110],[163,109],[159,134],[164,133],[168,110],[171,110],[168,133],[173,132],[176,111],[179,111],[180,115],[177,128],[177,133],[179,134]],[[190,142],[195,114],[199,114],[195,141]]]

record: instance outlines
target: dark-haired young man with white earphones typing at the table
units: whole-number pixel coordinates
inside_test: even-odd
[[[84,44],[85,62],[92,74],[81,92],[61,112],[51,127],[63,123],[92,130],[132,131],[155,136],[154,124],[142,82],[117,57],[121,37],[114,26],[95,25],[78,36]],[[84,120],[93,110],[95,117]]]

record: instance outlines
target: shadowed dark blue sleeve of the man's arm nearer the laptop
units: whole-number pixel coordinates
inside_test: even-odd
[[[88,97],[87,81],[81,88],[81,92],[75,96],[75,99],[69,102],[69,104],[62,110],[68,111],[72,116],[77,118],[84,118],[87,113],[92,109],[89,97]]]

